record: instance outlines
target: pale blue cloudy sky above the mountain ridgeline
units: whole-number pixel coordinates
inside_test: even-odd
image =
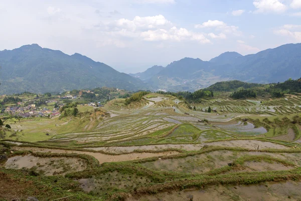
[[[0,50],[80,53],[120,72],[301,42],[301,0],[0,0]]]

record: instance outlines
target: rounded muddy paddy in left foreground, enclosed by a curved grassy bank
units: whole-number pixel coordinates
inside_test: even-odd
[[[45,175],[66,174],[72,171],[81,171],[86,168],[84,160],[76,158],[42,158],[32,155],[14,156],[4,164],[5,168],[22,169],[37,167],[37,171],[43,171]]]

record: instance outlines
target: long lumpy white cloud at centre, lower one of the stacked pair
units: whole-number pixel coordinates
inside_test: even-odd
[[[198,41],[199,43],[210,43],[210,40],[207,39],[201,33],[190,32],[187,29],[177,27],[172,27],[169,30],[157,29],[157,30],[148,30],[142,32],[140,37],[145,41],[183,41],[183,40],[192,40]]]

